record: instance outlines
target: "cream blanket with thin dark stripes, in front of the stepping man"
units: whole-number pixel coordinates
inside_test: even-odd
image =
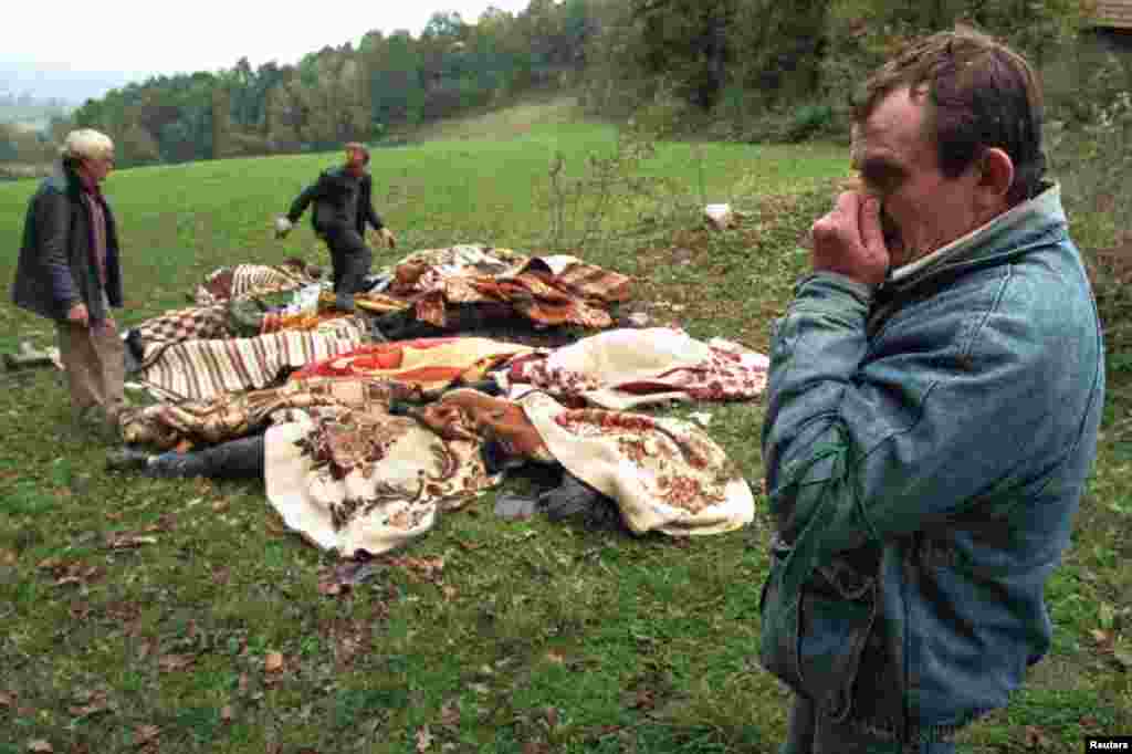
[[[156,388],[164,397],[194,401],[258,389],[277,382],[290,369],[358,348],[365,332],[360,319],[343,317],[314,331],[182,341],[162,350],[136,380]]]

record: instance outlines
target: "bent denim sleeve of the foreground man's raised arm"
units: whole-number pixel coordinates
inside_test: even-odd
[[[1034,472],[1027,446],[1056,410],[1044,388],[1056,363],[1027,340],[1024,311],[1001,306],[1006,285],[985,306],[902,324],[924,332],[867,366],[869,289],[831,273],[798,285],[772,336],[763,457],[780,531],[811,540],[812,566]]]

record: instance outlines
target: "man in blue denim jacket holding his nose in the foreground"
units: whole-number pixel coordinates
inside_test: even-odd
[[[911,43],[854,113],[860,189],[814,223],[771,345],[784,753],[952,752],[1049,648],[1104,345],[1040,119],[1029,65],[974,31]]]

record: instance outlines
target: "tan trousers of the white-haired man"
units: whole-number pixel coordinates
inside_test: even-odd
[[[76,419],[97,406],[117,426],[126,380],[126,349],[118,333],[106,326],[55,323],[59,359]]]

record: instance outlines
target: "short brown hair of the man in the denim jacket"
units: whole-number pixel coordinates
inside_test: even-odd
[[[1014,163],[1010,204],[1038,192],[1046,169],[1041,89],[1022,55],[967,26],[915,40],[865,83],[854,122],[863,125],[885,96],[906,86],[926,95],[925,128],[944,175],[959,175],[985,149],[998,147]]]

